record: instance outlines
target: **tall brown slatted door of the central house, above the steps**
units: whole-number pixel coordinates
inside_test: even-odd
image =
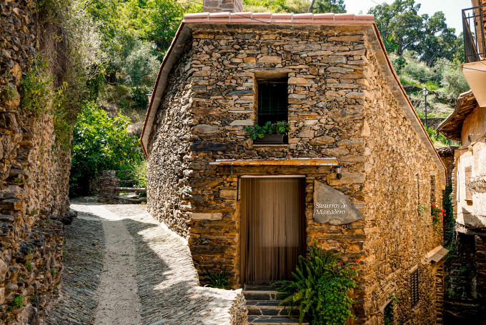
[[[241,181],[242,283],[291,279],[304,252],[304,179]]]

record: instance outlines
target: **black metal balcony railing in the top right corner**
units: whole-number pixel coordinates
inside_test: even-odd
[[[462,9],[462,28],[466,63],[486,59],[486,5]]]

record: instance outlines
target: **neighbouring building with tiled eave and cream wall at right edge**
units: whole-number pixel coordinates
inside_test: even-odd
[[[455,214],[455,254],[447,270],[447,324],[486,316],[486,109],[472,91],[461,94],[455,111],[440,124],[455,149],[452,204]]]

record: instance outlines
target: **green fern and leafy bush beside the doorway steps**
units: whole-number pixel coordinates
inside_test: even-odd
[[[277,281],[277,291],[282,292],[282,304],[289,304],[292,311],[299,308],[299,322],[304,317],[311,319],[317,325],[342,325],[352,318],[350,308],[353,300],[347,292],[356,287],[357,276],[355,266],[339,264],[339,253],[323,253],[314,242],[310,258],[299,256],[294,280]]]

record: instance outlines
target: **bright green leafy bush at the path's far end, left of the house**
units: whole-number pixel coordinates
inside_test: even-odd
[[[142,160],[135,136],[127,131],[129,119],[87,103],[76,119],[71,161],[71,195],[86,193],[89,179],[106,169],[122,169]]]

